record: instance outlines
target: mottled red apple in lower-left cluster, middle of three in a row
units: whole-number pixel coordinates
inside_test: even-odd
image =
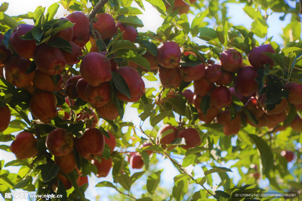
[[[54,156],[67,155],[73,149],[74,137],[72,133],[66,133],[63,128],[56,128],[46,137],[46,147]]]

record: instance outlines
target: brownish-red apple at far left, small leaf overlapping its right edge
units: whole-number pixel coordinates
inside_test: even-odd
[[[17,88],[29,85],[35,76],[35,72],[25,74],[25,71],[31,65],[31,60],[14,56],[4,65],[5,79]]]

